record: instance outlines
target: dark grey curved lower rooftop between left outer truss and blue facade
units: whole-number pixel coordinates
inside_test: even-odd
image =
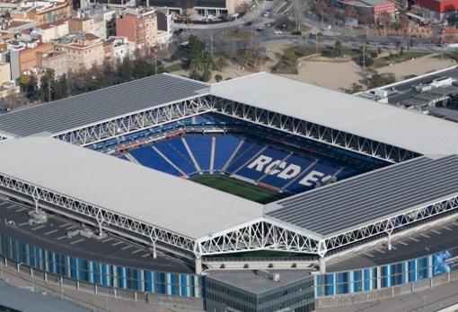
[[[48,222],[29,224],[27,208],[22,204],[0,199],[0,218],[14,221],[14,226],[0,224],[0,234],[16,238],[24,244],[40,246],[43,249],[80,259],[93,259],[104,264],[123,265],[145,270],[173,273],[193,273],[189,264],[158,253],[154,259],[151,250],[134,245],[109,235],[107,238],[93,239],[75,235],[66,236],[68,231],[82,229],[81,223],[48,213]]]

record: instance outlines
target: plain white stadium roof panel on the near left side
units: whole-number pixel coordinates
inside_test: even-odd
[[[261,204],[44,137],[0,143],[0,172],[189,238],[262,216]]]

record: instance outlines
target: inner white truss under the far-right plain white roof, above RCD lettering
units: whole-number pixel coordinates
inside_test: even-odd
[[[290,134],[312,139],[321,143],[327,143],[353,152],[359,152],[368,156],[391,162],[401,162],[418,157],[417,152],[376,142],[355,134],[348,134],[327,126],[320,126],[305,120],[288,117],[286,115],[271,112],[267,109],[255,108],[232,100],[220,99],[207,96],[215,111],[222,114],[249,121],[261,126],[269,126]]]

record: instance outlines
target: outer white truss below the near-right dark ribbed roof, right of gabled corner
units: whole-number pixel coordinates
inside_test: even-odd
[[[401,230],[402,227],[418,221],[438,216],[445,212],[453,212],[458,208],[458,195],[447,198],[435,204],[429,204],[420,208],[393,215],[383,221],[359,227],[356,230],[349,230],[338,235],[326,238],[324,245],[327,250],[336,249],[353,244],[357,241],[371,238],[379,234],[391,235],[394,230]],[[456,212],[456,211],[454,211]]]

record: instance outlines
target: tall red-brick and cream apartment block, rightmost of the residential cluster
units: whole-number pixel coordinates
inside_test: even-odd
[[[137,48],[157,45],[157,15],[152,8],[128,9],[116,19],[116,35],[135,42]]]

